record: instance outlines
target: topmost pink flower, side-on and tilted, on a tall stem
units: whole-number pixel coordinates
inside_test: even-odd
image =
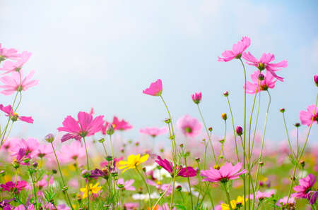
[[[243,51],[249,47],[251,39],[249,37],[243,37],[237,44],[233,44],[232,50],[223,51],[223,58],[218,57],[218,61],[232,61],[234,58],[241,58]]]

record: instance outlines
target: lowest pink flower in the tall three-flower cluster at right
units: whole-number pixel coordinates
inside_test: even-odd
[[[257,92],[260,92],[261,90],[267,90],[269,88],[273,89],[275,87],[275,83],[277,80],[271,75],[271,73],[266,73],[264,75],[264,80],[259,81],[259,75],[261,73],[259,70],[256,70],[254,73],[251,75],[252,82],[247,82],[246,83],[246,92],[249,94],[254,94],[257,90]],[[259,87],[257,89],[257,82],[259,81]],[[245,85],[243,85],[243,88],[245,89]]]

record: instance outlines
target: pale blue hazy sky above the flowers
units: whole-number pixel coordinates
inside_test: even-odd
[[[317,94],[317,11],[317,1],[0,1],[0,43],[32,52],[24,69],[35,70],[40,80],[23,92],[19,109],[35,122],[16,123],[12,136],[42,138],[56,133],[67,115],[94,107],[107,120],[116,115],[129,121],[134,129],[124,137],[138,139],[140,128],[162,127],[167,117],[158,97],[142,94],[158,78],[174,120],[187,113],[199,118],[191,94],[201,91],[206,121],[221,135],[220,115],[229,114],[225,90],[235,123],[243,123],[244,75],[238,61],[217,57],[249,36],[248,51],[257,58],[271,52],[276,61],[288,60],[278,73],[285,82],[271,90],[266,132],[271,140],[284,140],[278,110],[285,107],[292,130]],[[247,66],[248,75],[254,70]],[[1,96],[1,103],[12,100]],[[263,93],[259,128],[266,103]]]

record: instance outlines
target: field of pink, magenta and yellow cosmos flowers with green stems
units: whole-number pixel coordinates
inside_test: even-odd
[[[242,84],[237,88],[245,93],[242,125],[235,123],[228,91],[223,92],[228,112],[219,116],[222,136],[206,124],[201,92],[189,96],[197,117],[173,118],[164,99],[173,89],[158,79],[144,84],[140,93],[158,99],[166,111],[158,122],[165,126],[140,128],[146,136],[142,142],[123,137],[133,128],[129,122],[116,116],[107,121],[105,116],[116,113],[93,108],[64,116],[57,130],[42,139],[11,137],[16,123],[37,123],[33,113],[19,111],[23,95],[40,85],[35,71],[24,68],[32,54],[0,44],[0,93],[12,100],[0,104],[0,208],[317,210],[318,144],[310,132],[317,129],[318,93],[298,113],[271,109],[271,92],[284,82],[280,70],[288,68],[288,61],[276,61],[271,53],[255,57],[252,44],[242,37],[215,58],[242,71],[237,78]],[[318,75],[307,82],[318,87]],[[260,109],[261,96],[266,109]],[[285,128],[281,142],[266,139],[273,112],[281,114]],[[290,115],[299,116],[299,122],[288,121]],[[292,123],[294,130],[288,130],[286,124]],[[160,144],[159,136],[169,144]]]

